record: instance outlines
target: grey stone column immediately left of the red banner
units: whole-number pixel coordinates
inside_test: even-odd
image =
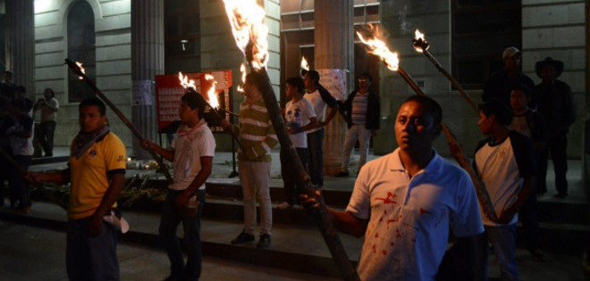
[[[164,0],[131,1],[131,118],[141,134],[156,140],[156,91],[154,78],[164,74]],[[133,155],[149,159],[149,153],[133,138]]]

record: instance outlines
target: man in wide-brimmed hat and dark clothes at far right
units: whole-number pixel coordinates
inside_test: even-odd
[[[568,84],[557,78],[563,71],[563,62],[554,61],[551,57],[544,61],[536,62],[536,75],[541,83],[535,87],[538,99],[538,109],[547,123],[547,149],[544,155],[540,155],[540,178],[547,175],[547,155],[551,153],[553,169],[555,170],[555,187],[558,198],[568,195],[568,161],[566,150],[568,148],[569,126],[576,120],[574,105],[571,100],[571,89]],[[537,193],[545,193],[547,186],[544,180],[539,182]]]

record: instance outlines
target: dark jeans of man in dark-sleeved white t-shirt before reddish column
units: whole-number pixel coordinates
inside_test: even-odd
[[[308,133],[308,171],[314,186],[324,186],[324,128]]]

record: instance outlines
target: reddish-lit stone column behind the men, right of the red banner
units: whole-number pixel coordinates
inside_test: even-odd
[[[351,72],[354,70],[354,21],[353,0],[316,0],[314,2],[315,67],[320,74],[331,70],[350,71],[346,86],[341,89],[344,97],[350,93]],[[322,78],[320,78],[322,83]],[[326,113],[327,114],[327,113]],[[325,128],[324,171],[333,175],[340,170],[342,145],[346,134],[346,122],[337,115]],[[354,171],[353,171],[354,172]]]

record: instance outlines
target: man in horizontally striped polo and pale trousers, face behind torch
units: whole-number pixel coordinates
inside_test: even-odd
[[[271,149],[278,143],[273,124],[266,112],[265,102],[258,90],[262,77],[249,73],[244,84],[246,101],[240,104],[240,166],[241,190],[244,195],[244,229],[232,244],[254,241],[256,228],[256,201],[260,204],[260,240],[257,247],[268,247],[271,243],[273,210],[270,199]]]

